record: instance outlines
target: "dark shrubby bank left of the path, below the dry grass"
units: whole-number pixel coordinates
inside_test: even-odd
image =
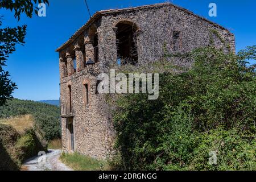
[[[0,123],[0,170],[19,170],[24,160],[46,151],[42,137],[35,128],[19,133],[11,125]]]

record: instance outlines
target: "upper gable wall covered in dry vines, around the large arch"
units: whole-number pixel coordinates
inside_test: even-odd
[[[217,48],[222,47],[227,52],[229,47],[230,51],[235,51],[234,35],[224,28],[175,7],[151,7],[102,16],[101,26],[98,28],[100,52],[101,58],[107,63],[117,59],[113,28],[122,21],[133,22],[139,28],[137,36],[139,64],[158,61],[163,56],[164,45],[167,53],[185,53],[197,47],[208,46],[210,39],[213,39],[214,46]],[[218,35],[213,34],[212,30],[216,30],[214,32],[218,32]],[[174,31],[180,32],[176,51],[174,51],[172,39]]]

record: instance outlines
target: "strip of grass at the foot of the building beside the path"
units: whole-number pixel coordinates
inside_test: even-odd
[[[61,154],[61,162],[65,163],[75,171],[102,171],[109,170],[109,165],[104,160],[97,160],[89,156],[74,154]]]

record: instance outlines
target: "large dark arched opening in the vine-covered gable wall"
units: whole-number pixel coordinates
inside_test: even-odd
[[[121,64],[137,64],[137,36],[135,32],[138,30],[132,22],[119,22],[116,26],[117,32],[117,56]]]

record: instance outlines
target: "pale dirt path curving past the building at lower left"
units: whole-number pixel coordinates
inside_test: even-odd
[[[59,160],[61,150],[49,149],[46,156],[35,156],[26,160],[23,169],[27,171],[72,171]]]

